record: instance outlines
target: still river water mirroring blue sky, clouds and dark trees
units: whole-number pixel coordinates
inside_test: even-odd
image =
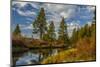
[[[25,53],[22,53],[16,65],[28,65],[28,64],[40,64],[43,59],[46,59],[48,56],[53,56],[58,54],[62,49],[33,49]]]

